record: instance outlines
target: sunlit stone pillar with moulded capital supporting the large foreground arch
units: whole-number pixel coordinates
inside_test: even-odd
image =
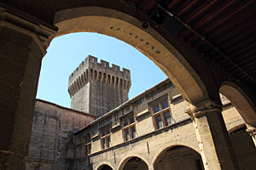
[[[187,111],[194,123],[205,170],[239,169],[221,108],[222,105],[206,101]]]

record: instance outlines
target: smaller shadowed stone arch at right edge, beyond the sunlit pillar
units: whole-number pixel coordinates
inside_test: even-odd
[[[223,82],[219,93],[230,100],[247,124],[256,127],[256,107],[242,88],[234,82]]]

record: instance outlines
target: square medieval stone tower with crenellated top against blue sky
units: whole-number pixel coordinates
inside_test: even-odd
[[[104,60],[98,63],[89,55],[69,76],[71,108],[102,116],[128,100],[130,87],[129,70],[120,71],[118,65],[110,67]]]

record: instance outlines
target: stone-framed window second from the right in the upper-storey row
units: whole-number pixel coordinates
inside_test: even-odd
[[[134,114],[129,114],[121,119],[123,137],[125,141],[136,138],[136,127],[134,121]]]

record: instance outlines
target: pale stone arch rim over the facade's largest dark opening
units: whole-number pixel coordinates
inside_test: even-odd
[[[157,153],[154,154],[154,157],[152,159],[152,164],[155,165],[155,163],[159,160],[160,156],[166,152],[166,150],[169,150],[170,148],[173,148],[175,146],[184,146],[184,147],[187,147],[191,150],[195,150],[195,152],[197,152],[199,155],[200,154],[200,149],[198,147],[198,145],[193,145],[193,144],[190,144],[190,143],[186,143],[186,142],[179,142],[179,144],[164,144],[162,146],[162,150],[159,150]]]

